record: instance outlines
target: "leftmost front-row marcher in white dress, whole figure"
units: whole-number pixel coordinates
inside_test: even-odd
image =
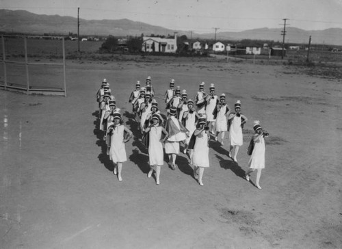
[[[122,163],[127,161],[124,143],[131,139],[133,133],[122,124],[120,112],[115,112],[113,119],[114,124],[111,124],[107,129],[107,133],[111,135],[109,158],[115,163],[114,174],[118,174],[118,180],[122,181]]]

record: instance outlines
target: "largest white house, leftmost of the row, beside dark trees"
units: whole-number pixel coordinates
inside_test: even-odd
[[[144,36],[142,42],[143,52],[163,52],[176,53],[177,38],[160,38],[160,37],[146,37]]]

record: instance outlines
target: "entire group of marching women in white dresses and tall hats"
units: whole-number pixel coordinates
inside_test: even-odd
[[[168,165],[176,169],[176,157],[182,152],[189,155],[194,169],[194,178],[202,186],[203,172],[209,168],[209,141],[211,138],[224,146],[224,135],[229,133],[228,155],[237,163],[237,153],[243,144],[242,129],[247,118],[241,113],[241,101],[236,101],[231,110],[226,104],[226,95],[215,94],[215,86],[211,83],[209,94],[205,93],[205,83],[199,85],[194,100],[189,99],[186,90],[179,86],[174,88],[174,79],[170,81],[164,99],[166,116],[161,115],[155,100],[155,90],[151,77],[147,77],[145,86],[140,81],[129,96],[132,112],[137,127],[142,133],[142,142],[148,148],[150,171],[148,178],[155,172],[157,185],[160,184],[161,166],[164,164],[164,150],[168,155]],[[114,94],[106,79],[96,93],[100,119],[100,131],[107,145],[107,155],[114,163],[114,174],[122,181],[122,163],[127,161],[125,143],[133,133],[123,124],[120,109],[116,105]],[[166,118],[165,118],[166,117]],[[250,174],[257,170],[255,185],[261,189],[259,180],[261,170],[265,168],[265,140],[268,133],[261,128],[258,120],[253,122],[254,135],[248,146],[248,170],[245,178],[250,181]]]

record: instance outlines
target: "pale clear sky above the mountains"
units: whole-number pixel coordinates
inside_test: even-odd
[[[342,0],[0,0],[0,9],[27,10],[86,20],[127,18],[193,31],[244,31],[287,27],[342,28]],[[216,29],[216,30],[215,30]]]

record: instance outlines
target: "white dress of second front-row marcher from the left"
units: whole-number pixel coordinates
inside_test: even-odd
[[[160,142],[161,131],[161,126],[150,128],[150,142],[148,144],[150,166],[162,166],[164,164],[163,144]]]

